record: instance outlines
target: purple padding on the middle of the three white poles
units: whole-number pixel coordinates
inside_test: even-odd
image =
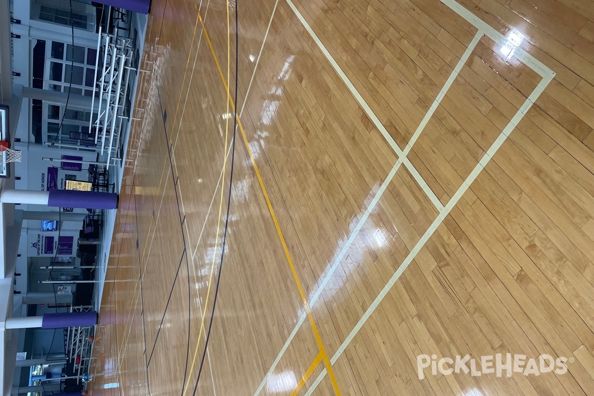
[[[118,194],[113,192],[50,190],[48,206],[59,208],[117,209]]]

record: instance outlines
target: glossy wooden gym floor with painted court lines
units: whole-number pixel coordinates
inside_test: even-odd
[[[594,394],[594,2],[238,8],[153,0],[92,394]]]

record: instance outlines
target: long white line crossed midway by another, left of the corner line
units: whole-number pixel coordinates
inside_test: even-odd
[[[287,0],[287,1],[290,1],[290,0]],[[295,11],[295,9],[293,9],[293,11]],[[298,11],[296,11],[296,12],[298,12]],[[301,15],[301,14],[299,14],[299,15]],[[314,35],[315,33],[311,33],[311,34]],[[444,87],[441,89],[441,91],[438,94],[437,98],[435,98],[435,101],[433,102],[433,104],[431,105],[431,107],[429,107],[428,112],[425,114],[425,117],[423,118],[423,120],[419,124],[419,126],[416,129],[415,133],[410,138],[410,141],[406,145],[405,150],[402,152],[402,155],[405,158],[406,158],[406,154],[409,153],[409,151],[412,148],[413,144],[415,144],[415,142],[418,139],[419,135],[421,135],[421,132],[425,129],[425,126],[429,122],[429,119],[431,119],[431,116],[435,113],[435,110],[439,106],[441,100],[443,99],[443,97],[447,93],[448,89],[451,87],[451,84],[453,84],[453,82],[456,79],[457,75],[460,73],[460,70],[462,70],[462,67],[466,63],[467,59],[469,58],[470,54],[472,53],[473,49],[476,47],[476,45],[478,44],[478,42],[479,42],[479,40],[481,39],[482,36],[483,36],[483,33],[480,30],[475,34],[475,37],[473,38],[472,42],[467,47],[465,53],[462,55],[462,57],[460,58],[458,64],[456,65],[456,68],[454,68],[454,70],[450,74],[450,77],[445,82]],[[314,40],[315,40],[315,37],[314,37]],[[346,78],[346,76],[345,76],[345,78]],[[350,248],[350,245],[352,245],[353,241],[355,240],[355,237],[358,235],[358,233],[361,230],[363,224],[365,223],[365,221],[369,217],[369,214],[371,214],[371,212],[374,210],[375,205],[377,205],[377,202],[380,200],[381,196],[384,194],[384,191],[386,191],[386,188],[387,188],[388,184],[391,182],[391,180],[396,175],[396,172],[399,169],[400,164],[402,164],[402,160],[399,159],[398,161],[396,161],[396,164],[394,164],[394,166],[390,170],[390,173],[388,173],[388,176],[386,177],[386,179],[384,180],[384,182],[380,186],[380,189],[378,189],[377,193],[375,194],[375,197],[369,203],[369,206],[366,208],[365,212],[363,213],[363,215],[359,219],[359,222],[357,223],[357,225],[355,226],[355,228],[351,232],[351,234],[349,236],[349,239],[347,239],[347,241],[345,242],[345,245],[340,250],[340,252],[336,256],[336,258],[334,259],[334,262],[331,265],[330,270],[328,270],[326,276],[324,277],[324,280],[320,283],[320,286],[318,287],[318,290],[315,292],[314,296],[312,297],[311,301],[309,302],[309,306],[314,306],[315,302],[320,297],[320,294],[322,293],[322,291],[324,290],[324,288],[326,287],[326,285],[330,281],[330,278],[334,274],[334,271],[336,271],[336,269],[340,265],[340,261],[342,261],[342,258],[345,256],[346,252]],[[421,185],[421,188],[422,189],[424,189],[424,190],[425,189],[429,189],[429,186],[425,183],[425,180],[423,180],[422,177],[421,177],[421,175],[419,175],[419,173],[416,172],[416,169],[414,167],[412,167],[412,170],[411,169],[409,169],[409,170],[411,171],[411,173],[413,173],[413,172],[416,173],[416,178],[415,179],[417,181],[418,180],[422,180],[422,183],[418,181],[418,183],[419,183],[419,185]],[[413,173],[413,176],[415,176],[415,173]],[[431,190],[429,189],[429,191],[431,191]],[[429,195],[429,198],[431,198],[431,195]],[[437,197],[435,197],[435,199],[437,199]],[[436,202],[434,202],[434,204],[438,207],[438,210],[443,209],[443,205],[441,204],[441,202],[439,200],[437,200],[437,202],[438,202],[438,205],[436,204]],[[264,376],[264,379],[262,380],[262,382],[260,383],[260,385],[256,389],[256,391],[254,393],[254,396],[257,396],[258,394],[260,394],[260,392],[264,388],[264,385],[266,385],[266,382],[268,381],[268,378],[270,378],[270,375],[273,373],[274,369],[276,369],[276,366],[279,364],[280,359],[285,354],[285,351],[289,347],[289,344],[291,343],[291,341],[295,337],[295,334],[296,334],[297,330],[299,329],[299,327],[301,327],[301,325],[305,321],[305,318],[306,318],[306,314],[305,313],[302,313],[302,315],[299,317],[299,320],[298,320],[297,324],[295,325],[295,328],[293,328],[293,331],[289,335],[289,338],[287,338],[287,341],[285,342],[285,344],[283,344],[283,347],[280,349],[279,354],[277,355],[276,359],[274,359],[274,362],[272,363],[270,369],[266,373],[266,376]]]

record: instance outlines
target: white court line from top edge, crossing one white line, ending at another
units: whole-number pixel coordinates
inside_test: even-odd
[[[388,142],[392,150],[394,150],[394,153],[396,153],[399,159],[402,159],[402,163],[405,165],[406,169],[408,169],[409,172],[412,174],[413,178],[416,180],[419,186],[421,186],[421,189],[425,192],[427,197],[429,197],[431,202],[435,205],[436,208],[438,208],[438,210],[443,208],[443,204],[441,204],[441,201],[439,200],[439,198],[437,198],[437,195],[435,195],[432,189],[429,188],[429,186],[427,185],[427,183],[425,183],[425,180],[423,180],[423,178],[421,177],[419,172],[417,172],[413,164],[409,161],[409,159],[406,158],[403,151],[400,150],[400,147],[396,144],[394,138],[391,137],[390,132],[388,132],[388,130],[386,129],[386,126],[384,126],[384,124],[381,123],[378,116],[375,115],[373,110],[371,110],[371,107],[369,107],[369,104],[365,102],[365,99],[363,99],[357,88],[355,88],[355,85],[353,85],[349,78],[346,77],[345,72],[342,70],[342,68],[340,68],[339,64],[337,64],[330,52],[328,52],[326,46],[324,46],[317,34],[314,33],[311,26],[309,26],[303,15],[301,15],[301,12],[299,12],[297,7],[295,7],[295,4],[293,4],[291,0],[286,0],[286,2],[287,4],[289,4],[289,7],[293,10],[293,12],[295,12],[296,17],[301,22],[305,30],[307,30],[309,36],[311,36],[311,38],[314,39],[314,42],[320,48],[321,52],[324,54],[324,57],[326,57],[328,62],[330,62],[330,65],[332,66],[334,71],[336,71],[336,74],[339,75],[340,79],[343,81],[343,83],[345,83],[346,87],[349,88],[350,93],[353,95],[353,97],[355,97],[355,100],[359,103],[359,106],[361,106],[361,108],[364,110],[369,119],[371,119],[371,121],[374,123],[375,128],[377,128],[377,130],[380,131],[384,139],[386,139],[386,141]]]

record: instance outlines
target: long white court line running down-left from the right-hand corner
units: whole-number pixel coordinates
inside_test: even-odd
[[[415,247],[412,249],[412,251],[410,251],[409,255],[406,256],[402,264],[400,264],[400,267],[398,267],[394,275],[392,275],[386,286],[384,286],[384,288],[375,298],[374,302],[371,303],[367,311],[365,311],[361,319],[359,319],[359,322],[355,325],[355,328],[353,328],[350,334],[346,337],[346,340],[340,345],[339,349],[336,351],[334,356],[332,356],[332,359],[330,359],[331,364],[336,363],[340,355],[342,355],[346,347],[349,346],[350,342],[353,340],[353,338],[355,338],[355,335],[359,332],[359,330],[361,330],[367,319],[369,319],[369,316],[371,316],[371,314],[375,311],[375,308],[377,308],[377,306],[380,305],[384,297],[386,297],[388,292],[390,292],[390,289],[392,288],[392,286],[394,286],[394,283],[396,283],[398,278],[400,278],[400,275],[402,275],[402,273],[406,270],[410,262],[412,262],[413,259],[415,259],[415,256],[425,246],[425,243],[437,230],[437,227],[439,227],[440,224],[443,223],[445,217],[448,216],[448,214],[454,208],[454,206],[457,204],[460,198],[462,198],[462,195],[467,191],[467,189],[470,188],[472,182],[474,182],[474,180],[485,168],[486,164],[488,164],[492,157],[495,155],[495,153],[497,153],[497,150],[499,150],[505,139],[507,139],[507,137],[511,134],[511,131],[513,131],[514,128],[516,128],[517,123],[520,122],[527,110],[530,109],[532,103],[534,103],[536,99],[538,99],[542,91],[544,91],[544,89],[546,88],[546,85],[548,85],[551,82],[552,78],[553,75],[549,75],[549,77],[542,78],[541,82],[536,86],[536,89],[532,92],[532,94],[530,94],[529,97],[527,97],[526,102],[522,106],[522,110],[518,110],[516,112],[516,115],[514,115],[514,117],[507,124],[507,126],[505,126],[505,129],[503,129],[497,140],[495,140],[491,147],[489,147],[489,150],[486,151],[485,156],[482,157],[481,161],[479,161],[478,164],[476,164],[475,168],[472,170],[472,172],[470,172],[470,175],[468,175],[462,186],[458,189],[458,191],[456,191],[454,196],[451,197],[450,201],[447,203],[447,205],[445,205],[444,209],[440,211],[440,214],[438,214],[437,218],[435,218],[431,226],[429,226],[429,229],[426,230],[419,242],[416,243]],[[311,395],[311,393],[315,390],[318,384],[320,384],[321,380],[324,378],[325,375],[326,370],[323,370],[323,372],[321,372],[318,378],[315,380],[312,387],[309,388],[306,396]]]

